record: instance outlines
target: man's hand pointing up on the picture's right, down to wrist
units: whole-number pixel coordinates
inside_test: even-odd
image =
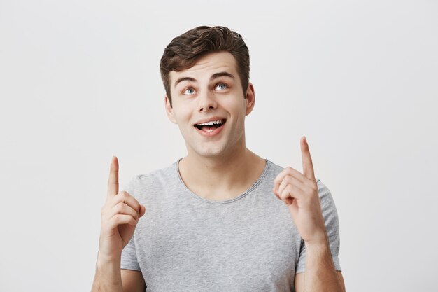
[[[279,200],[288,205],[292,220],[304,242],[326,242],[318,185],[306,137],[302,137],[300,145],[303,174],[297,169],[286,167],[274,179],[272,191]]]

